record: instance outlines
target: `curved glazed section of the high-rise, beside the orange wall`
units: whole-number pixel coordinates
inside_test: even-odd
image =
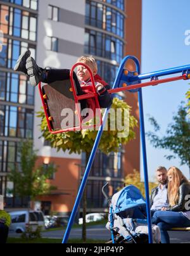
[[[108,84],[113,85],[125,51],[125,1],[86,1],[85,54],[96,56],[98,70]],[[101,188],[109,181],[108,193],[124,183],[122,157],[124,150],[109,156],[98,151],[87,181],[87,211],[98,212],[107,202]],[[84,161],[85,165],[85,161]]]

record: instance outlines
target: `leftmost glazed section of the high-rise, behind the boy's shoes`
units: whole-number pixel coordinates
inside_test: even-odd
[[[8,207],[27,206],[9,195],[7,174],[15,163],[20,167],[18,143],[34,138],[34,88],[13,67],[26,49],[36,54],[37,15],[37,0],[0,1],[0,194]]]

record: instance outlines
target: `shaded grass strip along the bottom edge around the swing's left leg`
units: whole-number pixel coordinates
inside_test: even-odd
[[[34,240],[23,240],[22,238],[8,238],[7,243],[61,243],[60,239],[51,239],[51,238],[38,238]],[[87,240],[86,243],[105,243],[103,240]],[[68,243],[83,243],[82,240],[72,239]]]

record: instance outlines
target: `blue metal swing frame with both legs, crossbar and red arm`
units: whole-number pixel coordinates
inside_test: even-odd
[[[125,63],[128,60],[133,60],[136,63],[136,70],[138,75],[134,75],[133,77],[130,77],[130,82],[137,82],[136,84],[133,84],[132,86],[129,85],[125,88],[118,88],[120,85],[120,81],[122,80],[123,74],[124,74],[124,68]],[[181,73],[181,77],[174,77],[158,80],[158,77],[161,77],[163,75],[172,75]],[[153,234],[152,234],[152,224],[151,224],[151,212],[150,212],[150,200],[149,200],[149,181],[148,181],[148,164],[147,164],[147,154],[146,154],[146,137],[145,137],[145,128],[144,128],[144,112],[143,112],[143,91],[142,87],[145,86],[155,86],[157,84],[161,84],[164,82],[172,82],[174,80],[180,80],[180,79],[190,79],[190,65],[185,65],[181,67],[176,68],[169,68],[166,70],[160,70],[157,72],[152,72],[148,74],[141,74],[141,68],[139,61],[135,56],[126,56],[124,60],[122,61],[120,68],[118,70],[117,77],[115,79],[115,82],[113,84],[113,88],[110,90],[110,93],[117,93],[118,91],[130,91],[130,92],[138,92],[138,98],[139,98],[139,112],[140,112],[140,128],[141,128],[141,143],[142,143],[142,151],[143,151],[143,168],[144,168],[144,186],[146,191],[146,211],[147,211],[147,221],[148,221],[148,231],[149,231],[149,243],[153,243]],[[145,79],[151,79],[151,82],[145,82],[141,84],[141,80]],[[82,99],[82,96],[80,96]],[[94,162],[94,158],[96,156],[96,151],[98,150],[99,142],[101,140],[101,136],[103,134],[103,129],[105,127],[106,118],[108,117],[109,108],[105,110],[105,113],[103,115],[103,124],[101,127],[99,127],[98,134],[96,136],[96,140],[94,142],[94,146],[92,148],[91,155],[89,157],[89,162],[87,163],[87,167],[84,172],[84,176],[82,178],[82,182],[80,184],[79,192],[77,194],[77,198],[75,200],[75,205],[72,210],[72,214],[70,215],[70,219],[68,221],[68,226],[66,227],[65,235],[63,238],[62,243],[67,243],[70,231],[72,229],[73,221],[75,219],[75,216],[77,214],[77,210],[80,205],[80,201],[82,199],[82,195],[84,193],[85,185],[87,183],[87,178],[89,176],[89,173],[91,171],[92,163]]]

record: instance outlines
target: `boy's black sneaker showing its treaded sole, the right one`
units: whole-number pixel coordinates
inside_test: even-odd
[[[27,58],[26,68],[32,86],[37,86],[46,79],[46,69],[39,67],[31,56]]]

